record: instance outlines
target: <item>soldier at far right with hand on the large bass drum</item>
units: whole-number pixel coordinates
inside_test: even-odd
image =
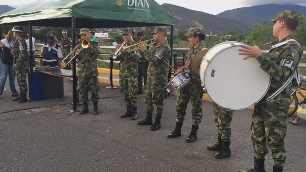
[[[273,100],[265,101],[295,73],[302,58],[301,45],[291,37],[302,15],[294,11],[281,11],[272,19],[273,35],[278,38],[278,44],[264,55],[258,46],[245,46],[241,55],[245,59],[255,57],[261,68],[271,76],[271,85],[263,100],[254,107],[252,116],[252,142],[254,148],[254,168],[249,171],[265,171],[265,155],[268,146],[274,161],[273,172],[283,171],[286,151],[284,139],[287,131],[287,113],[290,106],[292,84],[289,84]]]

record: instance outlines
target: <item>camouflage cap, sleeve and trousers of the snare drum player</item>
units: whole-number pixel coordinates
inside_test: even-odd
[[[197,29],[197,28],[196,28]],[[189,33],[186,36],[194,36],[194,34],[201,34],[200,29],[193,30],[190,35]],[[204,46],[200,44],[199,47],[195,48],[194,46],[190,48],[186,55],[186,62],[192,60],[195,54],[200,52]],[[201,86],[201,80],[199,76],[192,75],[188,67],[184,68],[184,71],[188,73],[191,77],[191,82],[182,88],[177,95],[176,99],[176,122],[183,123],[184,117],[186,115],[186,108],[189,100],[191,99],[192,104],[192,125],[199,126],[202,119],[202,96],[203,88]]]

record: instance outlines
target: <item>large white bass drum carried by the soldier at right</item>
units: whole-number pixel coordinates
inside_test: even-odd
[[[256,58],[243,60],[241,42],[226,41],[211,48],[202,58],[199,75],[210,99],[231,110],[246,109],[263,99],[270,76]]]

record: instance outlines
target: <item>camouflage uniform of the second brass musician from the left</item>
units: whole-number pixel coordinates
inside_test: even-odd
[[[124,29],[123,34],[130,34],[129,29]],[[126,46],[134,44],[132,40]],[[137,92],[138,92],[138,56],[129,50],[119,55],[116,60],[120,60],[120,91],[123,95],[127,106],[137,106]]]

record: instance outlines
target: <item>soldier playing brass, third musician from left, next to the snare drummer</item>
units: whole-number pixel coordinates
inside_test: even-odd
[[[144,45],[139,45],[139,50],[145,54],[149,61],[147,72],[147,84],[145,91],[145,103],[147,116],[144,120],[138,121],[138,125],[152,125],[153,104],[156,107],[156,117],[154,124],[150,127],[151,131],[160,129],[160,118],[163,108],[163,89],[168,80],[169,63],[171,49],[166,40],[166,28],[156,27],[152,32],[155,42],[158,42],[151,51]],[[165,63],[166,62],[166,63]]]

